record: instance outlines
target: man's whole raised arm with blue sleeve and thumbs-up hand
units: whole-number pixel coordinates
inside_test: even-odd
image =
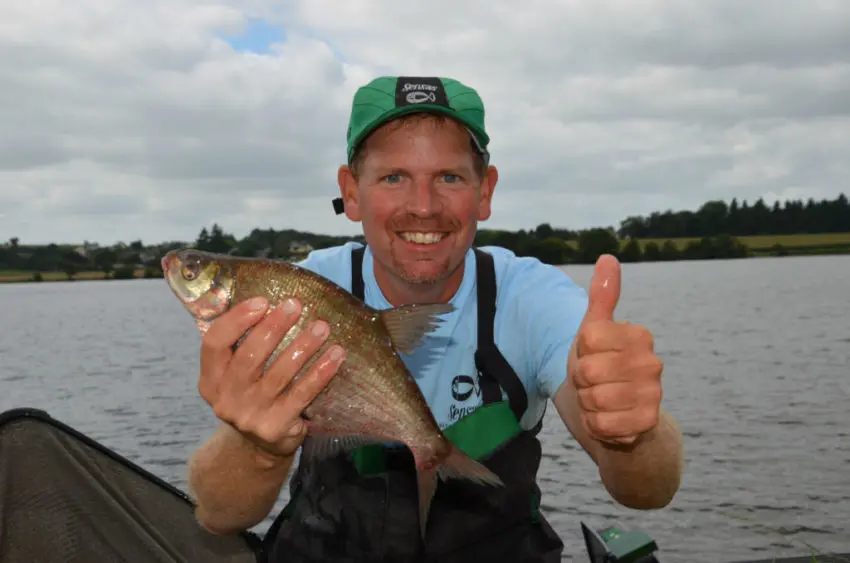
[[[660,409],[661,365],[649,332],[609,319],[619,298],[619,270],[611,261],[602,266],[591,296],[555,268],[536,265],[523,272],[523,294],[530,298],[523,300],[518,323],[526,327],[527,369],[596,463],[612,498],[629,508],[660,508],[681,482],[682,437]]]

